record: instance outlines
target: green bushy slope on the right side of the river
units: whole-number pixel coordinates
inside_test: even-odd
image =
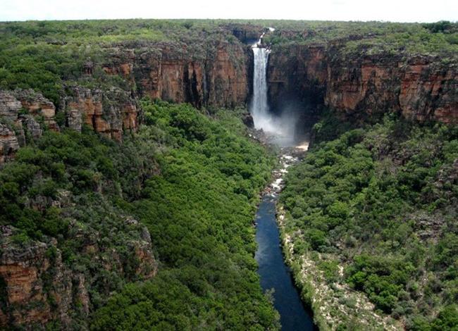
[[[364,292],[409,330],[450,330],[458,325],[458,130],[392,116],[316,144],[292,168],[280,196],[285,232],[293,254],[314,260],[329,284]]]

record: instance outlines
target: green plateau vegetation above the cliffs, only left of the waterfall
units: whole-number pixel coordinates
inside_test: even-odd
[[[36,89],[56,105],[69,83],[135,89],[102,69],[120,46],[156,51],[159,58],[167,45],[179,58],[204,60],[218,43],[238,42],[230,30],[206,20],[10,22],[0,23],[0,35],[0,89]]]

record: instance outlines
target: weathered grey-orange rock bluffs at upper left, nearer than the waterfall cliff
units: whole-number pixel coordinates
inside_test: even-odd
[[[140,109],[137,99],[118,87],[89,89],[66,87],[61,109],[32,89],[0,91],[0,163],[13,158],[27,137],[38,139],[43,130],[59,131],[61,125],[81,131],[82,124],[101,135],[120,141],[124,131],[135,131]]]

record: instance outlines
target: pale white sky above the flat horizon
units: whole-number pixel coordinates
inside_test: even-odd
[[[0,21],[97,18],[458,20],[458,0],[0,0]]]

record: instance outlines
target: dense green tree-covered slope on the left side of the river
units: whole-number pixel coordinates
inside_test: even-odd
[[[93,330],[278,327],[259,285],[252,226],[273,159],[233,113],[211,119],[184,104],[142,106],[146,124],[123,144],[63,130],[20,149],[1,166],[0,225],[18,229],[18,246],[57,239],[63,263],[87,279]],[[62,192],[68,206],[53,204]],[[132,216],[161,263],[147,282],[132,282],[141,278]],[[120,252],[122,268],[105,270],[85,249],[88,238]],[[73,327],[87,325],[75,304]]]

